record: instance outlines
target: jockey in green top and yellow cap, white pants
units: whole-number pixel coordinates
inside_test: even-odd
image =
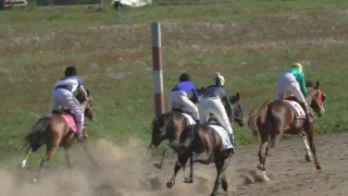
[[[277,99],[285,99],[286,91],[291,93],[301,107],[309,115],[309,120],[312,122],[315,120],[313,113],[309,109],[304,96],[307,95],[304,73],[302,72],[302,65],[300,63],[291,64],[290,69],[286,70],[276,82],[276,96]]]

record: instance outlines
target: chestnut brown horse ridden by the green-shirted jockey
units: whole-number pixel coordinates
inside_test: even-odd
[[[321,118],[322,108],[318,103],[319,86],[320,83],[318,81],[314,87],[308,87],[306,101]],[[308,115],[304,120],[296,119],[295,117],[291,106],[283,100],[269,101],[261,108],[251,110],[249,114],[248,125],[253,131],[254,135],[258,136],[260,143],[260,164],[257,164],[257,168],[263,172],[265,181],[270,180],[265,174],[265,158],[268,156],[269,145],[273,148],[283,134],[306,135],[309,142],[308,146],[304,137],[306,146],[307,148],[310,148],[313,154],[316,169],[322,170],[316,158],[313,143],[313,123],[309,122]],[[308,160],[308,156],[306,156],[306,159]]]

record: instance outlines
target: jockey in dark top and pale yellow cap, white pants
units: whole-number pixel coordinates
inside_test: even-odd
[[[215,85],[208,86],[206,88],[203,99],[200,101],[198,106],[200,123],[207,123],[209,114],[212,113],[217,119],[220,124],[225,128],[231,139],[231,143],[234,146],[233,130],[228,120],[228,117],[232,115],[233,110],[229,96],[223,87],[225,84],[225,78],[224,76],[220,75],[219,72],[216,72],[214,79]],[[223,105],[223,101],[225,102],[226,109]]]

